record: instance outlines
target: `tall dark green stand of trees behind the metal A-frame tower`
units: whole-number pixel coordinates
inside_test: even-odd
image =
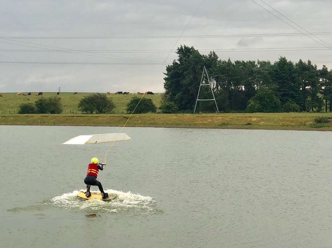
[[[202,55],[194,47],[180,46],[178,59],[166,67],[165,102],[192,112],[204,66],[218,109],[224,112],[332,111],[332,70],[318,69],[310,60],[297,63],[280,57],[270,61],[220,60],[214,51]],[[207,77],[204,77],[207,83]],[[200,99],[211,99],[201,86]],[[214,101],[199,102],[198,111],[215,111]]]

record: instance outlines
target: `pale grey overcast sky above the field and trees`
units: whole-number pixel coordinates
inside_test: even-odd
[[[2,0],[0,92],[164,92],[180,45],[331,69],[331,13],[328,0]]]

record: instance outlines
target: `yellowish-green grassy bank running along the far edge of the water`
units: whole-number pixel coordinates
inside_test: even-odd
[[[322,113],[134,114],[127,127],[188,127],[332,131],[332,123],[314,122]],[[129,114],[0,115],[0,125],[123,126]]]

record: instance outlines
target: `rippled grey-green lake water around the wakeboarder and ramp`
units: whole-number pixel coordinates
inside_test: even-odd
[[[61,145],[120,130],[0,126],[0,246],[332,246],[331,132],[124,128],[112,147]],[[119,197],[80,200],[109,149],[98,179]]]

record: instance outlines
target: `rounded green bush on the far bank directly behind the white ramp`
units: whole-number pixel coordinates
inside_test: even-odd
[[[106,94],[96,93],[84,96],[78,103],[78,110],[83,113],[106,114],[111,113],[115,108],[112,98],[108,98]]]

